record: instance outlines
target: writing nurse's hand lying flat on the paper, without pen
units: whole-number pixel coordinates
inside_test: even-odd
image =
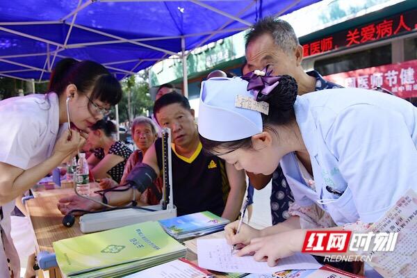
[[[301,252],[304,234],[301,229],[261,238],[253,238],[250,245],[243,247],[236,255],[254,254],[255,261],[268,261],[269,266],[277,265],[281,258]]]

